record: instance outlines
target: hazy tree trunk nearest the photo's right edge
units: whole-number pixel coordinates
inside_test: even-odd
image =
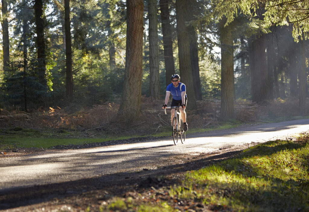
[[[299,109],[301,115],[306,115],[306,56],[304,41],[301,40],[301,55],[300,55],[300,69],[299,69]]]

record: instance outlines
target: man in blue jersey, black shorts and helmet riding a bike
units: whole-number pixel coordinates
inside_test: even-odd
[[[186,123],[186,112],[184,111],[187,105],[187,94],[186,94],[186,86],[185,84],[179,82],[180,76],[178,74],[173,74],[171,76],[172,83],[167,85],[166,87],[166,96],[165,96],[165,102],[162,108],[164,109],[167,107],[167,102],[170,97],[170,94],[172,95],[172,102],[171,107],[174,106],[181,106],[179,108],[181,118],[184,122],[184,131],[188,130],[188,124]],[[175,109],[171,109],[171,122],[173,121]]]

